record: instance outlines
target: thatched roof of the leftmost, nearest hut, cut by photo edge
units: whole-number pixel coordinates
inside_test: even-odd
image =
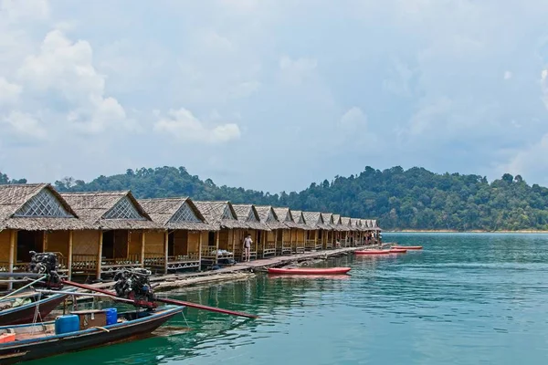
[[[0,185],[0,230],[84,229],[78,214],[48,183]]]

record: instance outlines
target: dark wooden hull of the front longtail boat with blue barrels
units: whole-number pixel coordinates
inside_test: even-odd
[[[104,328],[108,331],[89,328],[63,335],[49,335],[40,339],[0,344],[0,364],[15,364],[20,361],[42,359],[66,352],[142,339],[150,336],[154,329],[159,328],[183,310],[184,307],[167,309],[150,317],[105,326]]]

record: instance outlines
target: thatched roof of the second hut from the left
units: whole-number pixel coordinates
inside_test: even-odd
[[[121,192],[61,193],[89,229],[163,229],[129,190]]]

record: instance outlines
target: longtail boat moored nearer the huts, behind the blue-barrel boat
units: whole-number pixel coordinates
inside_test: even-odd
[[[76,291],[76,288],[71,287],[66,291]],[[37,308],[39,313],[37,319],[45,318],[66,297],[68,297],[68,294],[45,296],[36,291],[28,291],[16,294],[13,297],[6,297],[0,300],[0,326],[32,323],[37,315]]]

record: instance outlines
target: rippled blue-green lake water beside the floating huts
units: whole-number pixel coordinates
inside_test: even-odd
[[[261,316],[189,309],[171,337],[40,364],[545,364],[548,235],[385,235],[424,245],[348,256],[343,278],[254,279],[173,295]]]

